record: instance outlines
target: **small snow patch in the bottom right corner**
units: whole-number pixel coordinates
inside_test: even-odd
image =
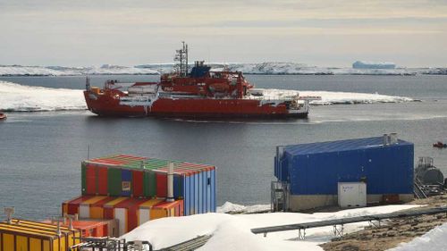
[[[425,235],[402,243],[389,251],[440,251],[447,250],[447,223],[428,231]]]

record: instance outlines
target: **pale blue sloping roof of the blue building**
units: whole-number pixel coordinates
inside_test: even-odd
[[[385,146],[390,147],[390,146],[403,146],[403,145],[411,146],[413,145],[413,143],[398,139],[398,142],[395,145],[385,145]],[[291,145],[286,146],[284,152],[287,152],[291,155],[314,155],[321,153],[352,151],[352,150],[380,148],[380,147],[384,147],[384,137],[354,138],[354,139],[345,139],[337,141]]]

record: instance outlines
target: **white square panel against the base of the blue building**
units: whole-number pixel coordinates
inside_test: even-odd
[[[341,207],[367,206],[367,184],[364,182],[339,182],[338,205]]]

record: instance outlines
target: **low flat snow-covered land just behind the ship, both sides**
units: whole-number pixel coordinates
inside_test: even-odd
[[[296,90],[273,89],[272,91],[281,91],[289,95],[298,93]],[[386,96],[353,92],[299,91],[299,95],[322,97],[321,100],[311,101],[311,105],[350,105],[414,101],[405,96]],[[87,109],[87,105],[85,104],[84,96],[80,89],[30,87],[0,81],[0,110],[12,112],[43,112],[84,109]]]

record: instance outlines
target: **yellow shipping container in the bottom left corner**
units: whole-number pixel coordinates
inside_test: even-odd
[[[0,251],[66,251],[80,243],[80,230],[25,220],[0,222]]]

